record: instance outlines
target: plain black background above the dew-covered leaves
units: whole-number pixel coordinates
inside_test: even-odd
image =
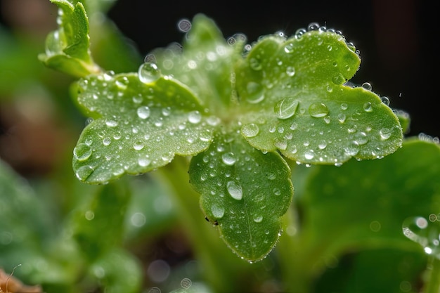
[[[370,82],[390,107],[408,112],[407,136],[440,136],[436,1],[119,0],[109,15],[146,55],[181,41],[176,23],[197,13],[212,18],[224,37],[242,32],[249,41],[279,30],[295,34],[310,22],[341,30],[361,51],[361,68],[351,81]]]

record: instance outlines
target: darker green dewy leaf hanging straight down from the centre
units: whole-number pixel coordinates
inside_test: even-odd
[[[264,154],[239,134],[219,136],[191,159],[189,174],[207,219],[233,252],[247,261],[271,252],[293,195],[290,168],[277,152]]]

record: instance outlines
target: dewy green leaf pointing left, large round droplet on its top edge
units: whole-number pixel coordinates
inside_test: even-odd
[[[74,150],[81,181],[145,173],[209,146],[214,122],[198,99],[179,82],[156,78],[144,84],[137,74],[101,74],[79,82],[79,103],[96,118]]]

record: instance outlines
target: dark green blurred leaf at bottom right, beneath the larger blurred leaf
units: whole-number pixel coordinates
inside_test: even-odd
[[[373,249],[349,254],[314,282],[313,292],[420,292],[420,275],[427,257],[396,249]]]

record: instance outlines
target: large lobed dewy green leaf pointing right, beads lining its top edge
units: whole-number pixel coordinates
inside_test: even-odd
[[[308,164],[394,152],[403,138],[399,119],[375,93],[344,84],[359,64],[334,32],[262,39],[237,69],[242,135],[255,148]]]

